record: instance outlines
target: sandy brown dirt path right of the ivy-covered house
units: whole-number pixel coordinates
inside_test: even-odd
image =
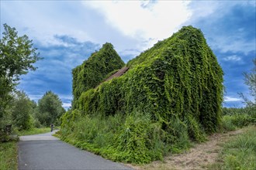
[[[225,134],[213,134],[209,140],[196,144],[189,151],[180,155],[170,155],[164,158],[164,162],[152,162],[144,166],[131,166],[135,169],[205,169],[206,165],[212,164],[220,152],[221,144],[231,136],[242,133],[243,130],[230,131]]]

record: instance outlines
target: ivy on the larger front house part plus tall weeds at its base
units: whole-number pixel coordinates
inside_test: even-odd
[[[73,89],[79,97],[73,110],[61,118],[66,141],[112,160],[147,163],[220,128],[223,70],[199,29],[183,27],[127,66],[123,76],[100,85],[104,76],[90,72],[101,80],[83,90],[88,78],[81,66],[73,70],[73,87],[81,86]],[[116,115],[123,124],[109,128]]]

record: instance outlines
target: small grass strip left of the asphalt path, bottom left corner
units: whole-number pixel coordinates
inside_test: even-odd
[[[17,142],[0,143],[0,169],[17,169]]]

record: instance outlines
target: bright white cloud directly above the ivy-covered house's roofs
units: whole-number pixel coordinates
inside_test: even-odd
[[[188,1],[86,1],[83,4],[102,13],[106,22],[126,36],[154,42],[171,36],[191,15]]]

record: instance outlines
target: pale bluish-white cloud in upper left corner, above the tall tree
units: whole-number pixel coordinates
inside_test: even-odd
[[[79,8],[81,2],[68,1],[4,1],[1,2],[2,22],[16,27],[44,45],[58,45],[54,35],[69,35],[81,41],[93,39],[86,32],[91,18]],[[15,12],[14,12],[15,11]],[[4,15],[3,15],[4,14]],[[2,23],[1,23],[2,24]]]

